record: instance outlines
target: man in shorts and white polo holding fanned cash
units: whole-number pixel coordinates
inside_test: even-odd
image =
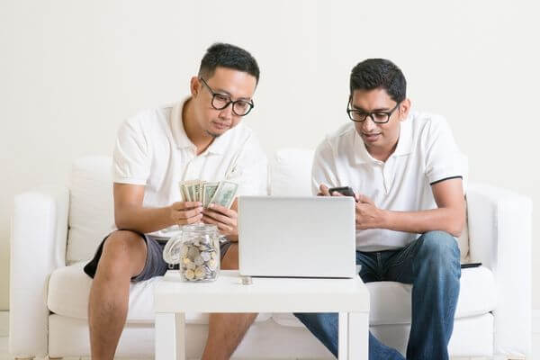
[[[217,225],[227,238],[221,268],[238,268],[235,194],[266,194],[266,156],[241,123],[254,107],[258,78],[257,61],[246,50],[214,44],[187,99],[139,112],[121,125],[112,166],[115,230],[85,266],[94,278],[88,305],[94,360],[113,358],[130,282],[165,274],[163,247],[179,226]],[[187,196],[189,181],[197,186]],[[209,198],[203,207],[204,184]],[[202,358],[229,358],[255,317],[211,314]]]

